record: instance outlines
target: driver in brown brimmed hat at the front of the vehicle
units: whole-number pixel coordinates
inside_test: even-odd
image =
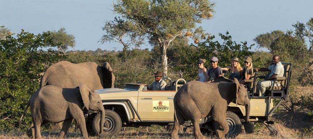
[[[165,90],[166,82],[162,80],[163,73],[160,71],[156,71],[153,74],[156,81],[154,81],[150,86],[148,86],[147,89],[152,89],[153,91]]]

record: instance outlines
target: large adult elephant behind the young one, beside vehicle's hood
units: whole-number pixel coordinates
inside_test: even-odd
[[[95,62],[74,64],[60,61],[51,65],[40,80],[40,87],[53,85],[61,88],[75,88],[80,84],[87,85],[91,90],[114,88],[115,76],[108,62],[103,66]]]

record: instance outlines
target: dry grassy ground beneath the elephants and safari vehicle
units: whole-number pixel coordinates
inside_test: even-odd
[[[313,87],[298,87],[301,93],[313,93]],[[236,139],[313,139],[313,120],[304,112],[286,112],[281,110],[273,114],[272,119],[275,121],[274,126],[279,132],[278,136],[269,136],[269,130],[261,123],[254,124],[254,133],[239,134]],[[193,127],[184,127],[180,132],[180,139],[194,139],[192,135]],[[171,130],[162,126],[152,127],[123,127],[119,135],[112,139],[166,139]],[[54,131],[41,132],[44,139],[56,139],[58,133]],[[206,136],[208,139],[216,138],[214,135]],[[65,138],[79,139],[82,138],[79,131],[70,128]],[[90,139],[111,139],[110,137],[89,137]],[[0,139],[28,139],[25,131],[0,131]]]

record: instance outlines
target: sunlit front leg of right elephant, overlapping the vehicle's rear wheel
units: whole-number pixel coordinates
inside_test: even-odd
[[[228,132],[229,127],[226,121],[226,110],[218,110],[213,108],[212,112],[213,120],[218,123],[219,127],[216,130],[216,136],[219,139],[224,139],[225,134]]]

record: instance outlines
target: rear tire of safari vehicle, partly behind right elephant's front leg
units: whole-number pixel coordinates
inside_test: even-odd
[[[241,132],[241,121],[237,114],[233,112],[226,111],[226,121],[228,123],[228,133],[225,135],[225,137],[237,137],[238,134]],[[213,122],[213,128],[214,131],[218,129],[217,122]]]

